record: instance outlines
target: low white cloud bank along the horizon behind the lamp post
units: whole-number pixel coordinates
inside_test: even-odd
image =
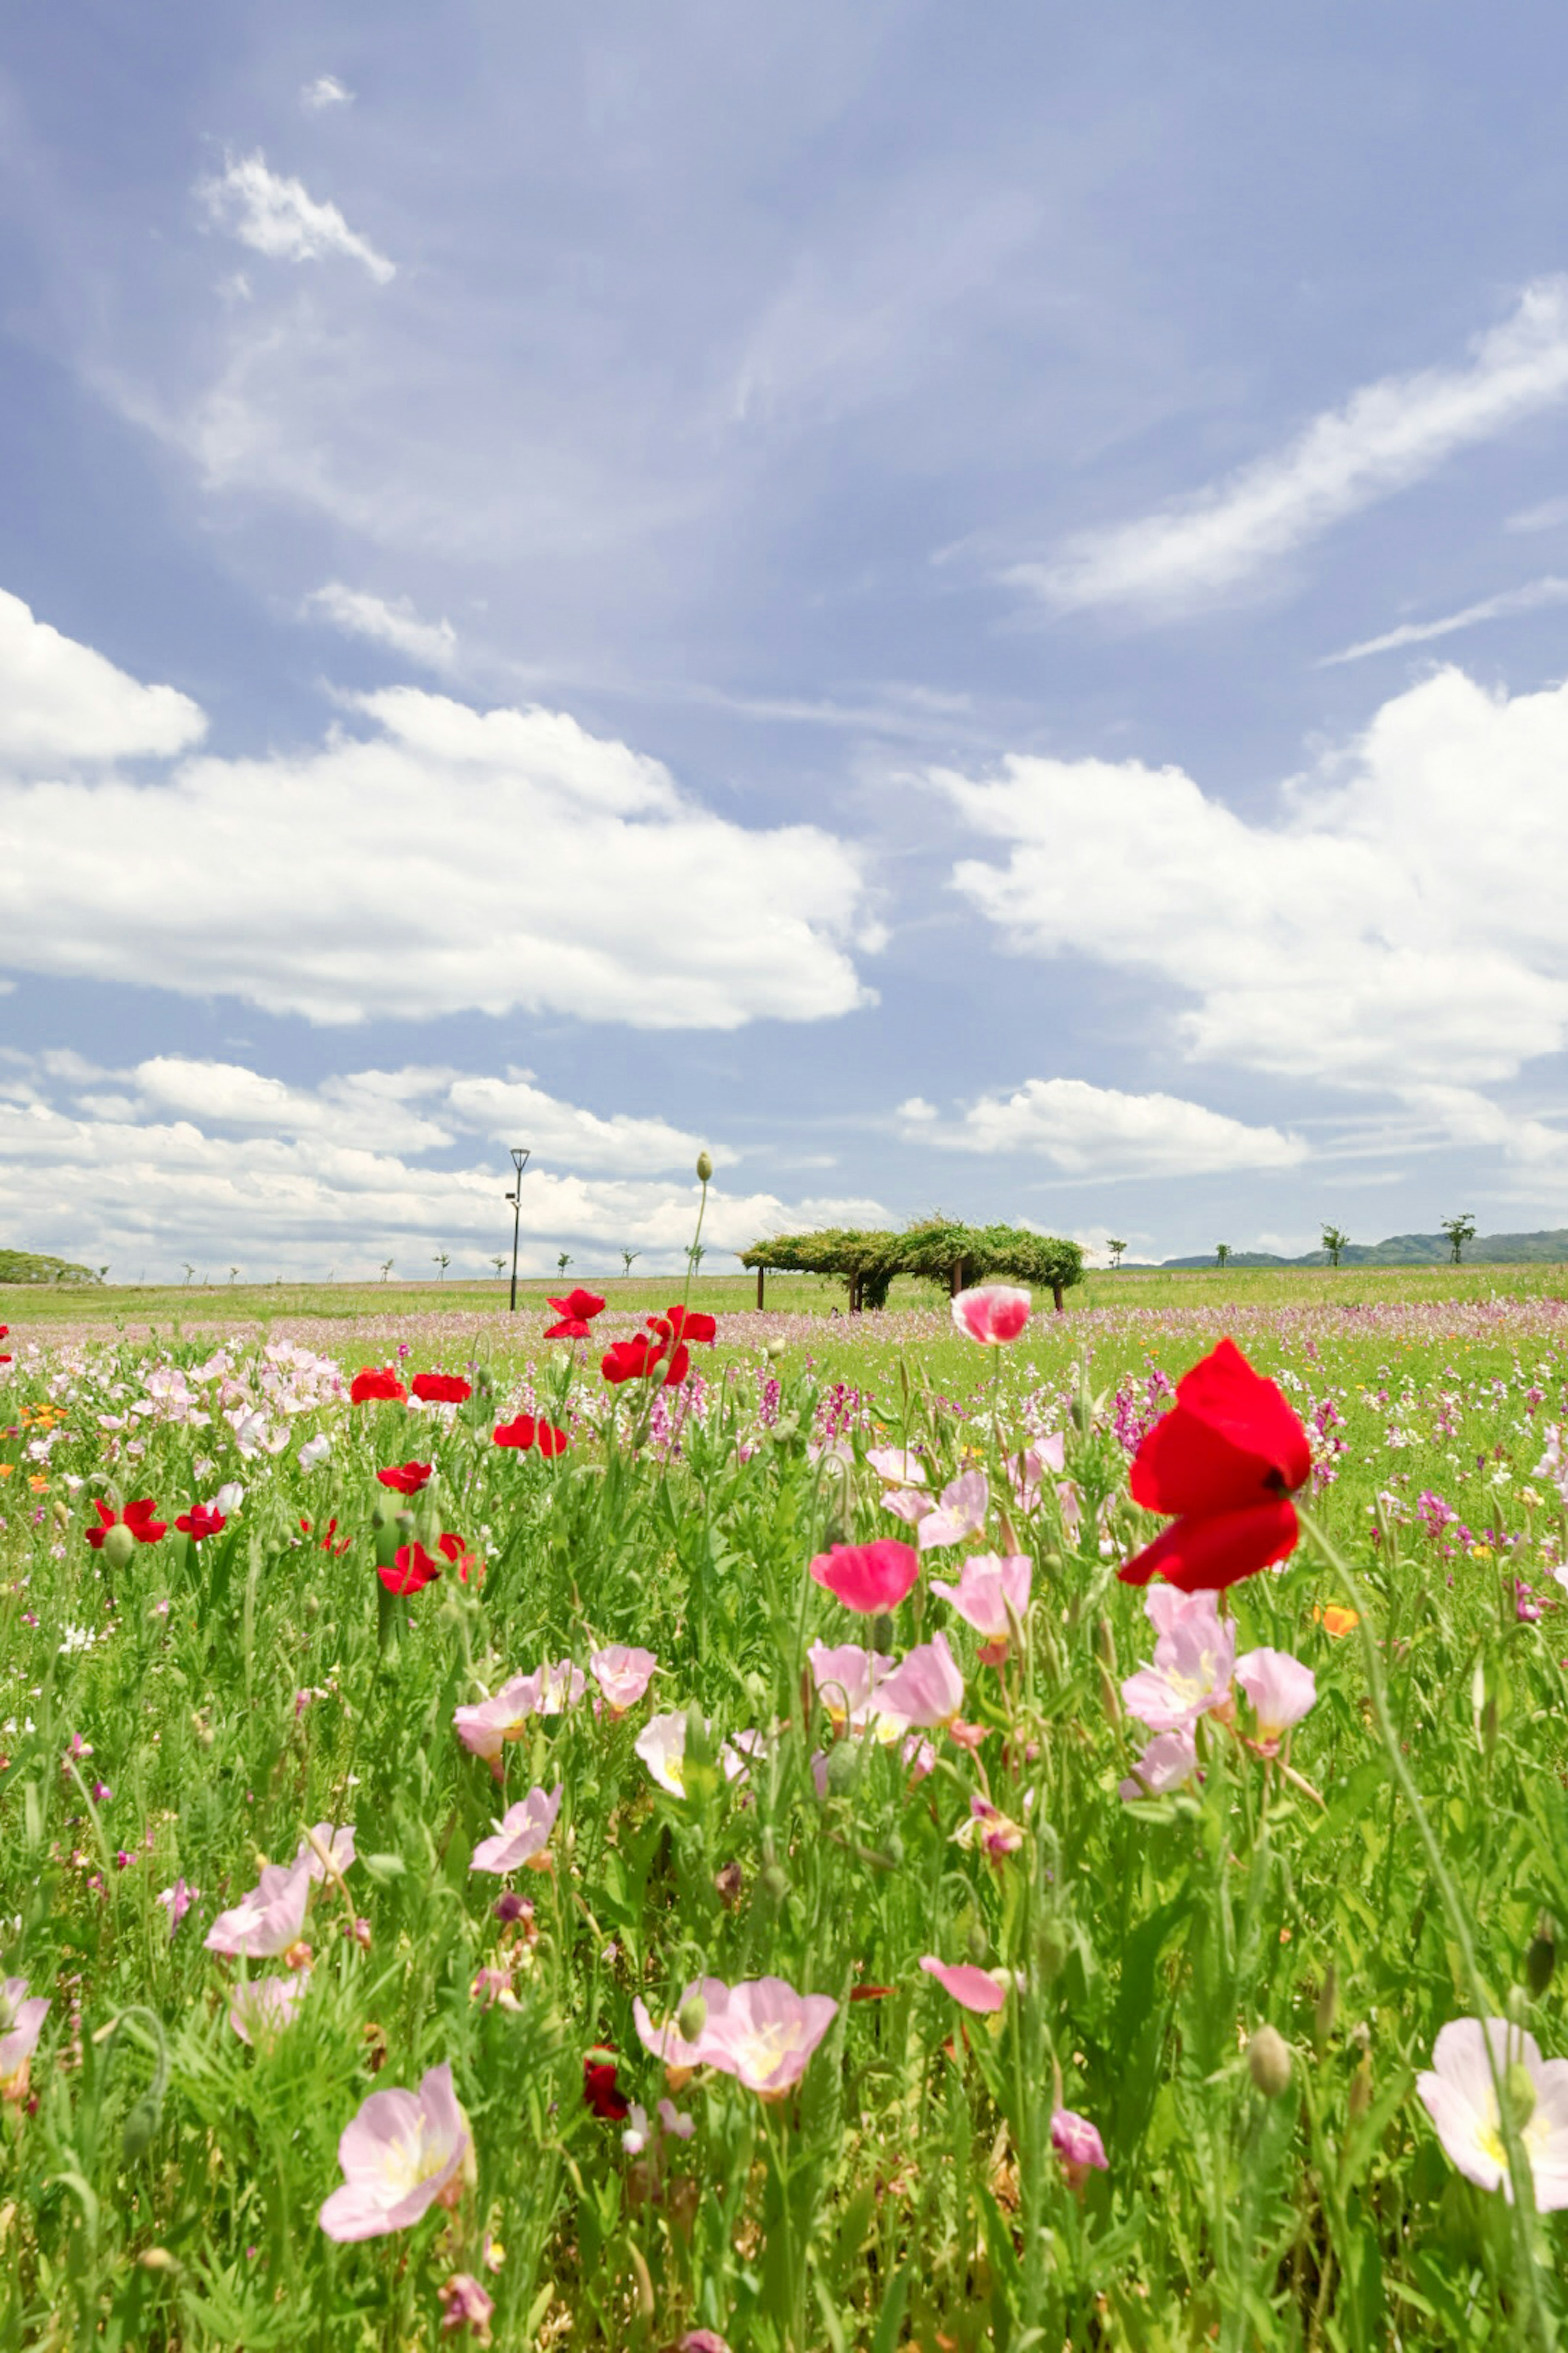
[[[240,1066],[165,1056],[115,1073],[118,1099],[52,1078],[42,1059],[12,1056],[5,1073],[0,1231],[26,1235],[28,1247],[108,1261],[120,1275],[167,1275],[190,1259],[209,1271],[240,1264],[261,1280],[331,1266],[367,1275],[388,1254],[397,1273],[428,1278],[437,1249],[480,1271],[494,1254],[510,1254],[505,1158],[428,1158],[440,1129],[456,1125],[447,1118],[451,1073],[355,1073],[296,1089]],[[395,1113],[400,1089],[411,1099],[409,1118]],[[569,1104],[555,1104],[555,1115],[567,1132],[585,1118]],[[684,1264],[696,1179],[642,1174],[663,1162],[665,1146],[642,1134],[658,1122],[602,1125],[625,1146],[616,1174],[529,1165],[522,1264],[531,1273],[552,1273],[567,1247],[576,1273],[614,1268],[621,1249],[639,1249],[644,1271]],[[252,1129],[242,1151],[233,1127]],[[877,1221],[886,1209],[875,1200],[783,1202],[773,1193],[731,1193],[719,1172],[703,1238],[717,1264],[759,1233]]]

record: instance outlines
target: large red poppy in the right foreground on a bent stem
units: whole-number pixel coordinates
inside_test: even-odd
[[[1175,1520],[1117,1574],[1159,1574],[1182,1593],[1220,1591],[1295,1551],[1291,1492],[1312,1447],[1291,1405],[1222,1339],[1175,1386],[1175,1405],[1133,1457],[1133,1501]]]

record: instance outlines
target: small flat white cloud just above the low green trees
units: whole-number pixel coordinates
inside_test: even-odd
[[[1246,1127],[1178,1094],[1121,1094],[1081,1078],[1027,1078],[983,1094],[952,1125],[931,1104],[900,1106],[905,1132],[961,1153],[1039,1153],[1070,1176],[1197,1176],[1284,1169],[1307,1158],[1300,1136]]]

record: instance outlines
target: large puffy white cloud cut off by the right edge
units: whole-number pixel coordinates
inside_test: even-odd
[[[1009,948],[1150,974],[1197,1059],[1399,1092],[1568,1045],[1566,772],[1568,687],[1507,701],[1446,668],[1272,824],[1133,760],[933,781],[1009,842],[954,871]]]

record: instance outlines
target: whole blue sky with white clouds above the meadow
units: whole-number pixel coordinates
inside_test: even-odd
[[[0,61],[0,1235],[1568,1221],[1568,31]]]

